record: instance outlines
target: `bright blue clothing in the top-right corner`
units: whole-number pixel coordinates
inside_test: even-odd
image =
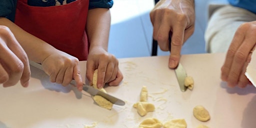
[[[256,13],[256,0],[228,0],[228,2],[233,6],[241,7]]]

